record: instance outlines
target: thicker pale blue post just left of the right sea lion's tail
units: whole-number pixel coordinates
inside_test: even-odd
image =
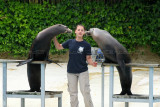
[[[113,107],[113,90],[114,90],[114,66],[110,66],[110,76],[109,76],[109,107]]]

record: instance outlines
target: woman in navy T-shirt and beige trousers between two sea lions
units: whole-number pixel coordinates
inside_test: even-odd
[[[77,25],[75,34],[75,39],[69,39],[63,44],[59,44],[56,37],[53,41],[58,50],[64,48],[69,49],[67,78],[71,107],[79,107],[78,81],[84,98],[85,107],[93,107],[90,95],[88,64],[96,67],[97,62],[92,61],[90,44],[83,40],[83,35],[85,34],[84,26]]]

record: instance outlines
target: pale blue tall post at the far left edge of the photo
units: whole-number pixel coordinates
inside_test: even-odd
[[[7,62],[3,62],[3,107],[7,107]]]

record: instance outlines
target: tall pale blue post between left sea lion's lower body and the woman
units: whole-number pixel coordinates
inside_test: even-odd
[[[45,107],[45,64],[41,64],[41,107]]]

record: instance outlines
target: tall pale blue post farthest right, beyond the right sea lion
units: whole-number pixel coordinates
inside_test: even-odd
[[[153,73],[154,68],[149,68],[149,107],[153,107]]]

